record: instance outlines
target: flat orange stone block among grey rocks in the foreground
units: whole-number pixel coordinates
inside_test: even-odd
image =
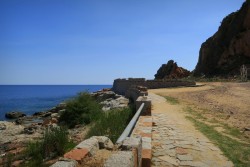
[[[78,162],[83,160],[87,155],[89,154],[89,151],[86,148],[80,148],[80,149],[73,149],[66,154],[64,154],[64,158],[73,159]]]

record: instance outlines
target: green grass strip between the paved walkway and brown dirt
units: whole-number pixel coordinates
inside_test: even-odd
[[[201,113],[196,112],[190,107],[187,107],[185,111],[190,114],[186,116],[186,118],[193,122],[200,132],[216,144],[235,166],[250,166],[250,144],[242,143],[229,136],[223,135],[223,133],[218,132],[215,127],[219,125],[225,129],[225,133],[237,138],[242,138],[242,134],[238,129],[230,127],[225,123],[220,123],[215,118],[207,121],[216,123],[217,125],[208,125],[204,122],[206,118]]]

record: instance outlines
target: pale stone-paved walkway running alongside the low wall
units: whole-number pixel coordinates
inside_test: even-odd
[[[150,93],[152,166],[231,167],[231,161],[185,118],[181,105]]]

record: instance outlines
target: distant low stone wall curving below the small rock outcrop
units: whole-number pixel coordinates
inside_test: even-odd
[[[145,78],[116,79],[113,83],[115,93],[126,95],[131,86],[144,86],[148,89],[193,86],[195,82],[181,80],[146,80]]]

